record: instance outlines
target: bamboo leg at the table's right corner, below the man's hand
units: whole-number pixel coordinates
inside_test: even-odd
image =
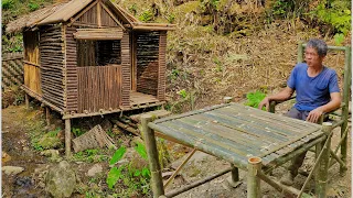
[[[322,147],[322,158],[320,160],[318,167],[318,178],[315,178],[315,194],[318,198],[327,197],[327,187],[328,187],[328,169],[329,169],[329,160],[330,160],[330,145],[331,145],[331,131],[332,123],[323,122],[322,131],[328,135],[328,140]]]

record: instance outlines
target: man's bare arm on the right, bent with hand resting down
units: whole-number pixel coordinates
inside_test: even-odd
[[[319,121],[319,118],[323,113],[331,112],[333,110],[336,110],[341,106],[341,95],[340,92],[331,92],[331,101],[324,106],[318,107],[317,109],[310,111],[307,121],[317,123]]]

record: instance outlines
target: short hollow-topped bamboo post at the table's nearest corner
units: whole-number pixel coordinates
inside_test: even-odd
[[[250,157],[247,165],[247,198],[261,197],[260,178],[257,173],[261,170],[261,158]]]

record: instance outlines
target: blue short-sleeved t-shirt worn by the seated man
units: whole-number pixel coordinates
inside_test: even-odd
[[[297,91],[295,108],[311,111],[331,100],[331,92],[340,92],[338,75],[333,69],[323,67],[315,77],[308,76],[308,65],[297,64],[287,81],[288,87]]]

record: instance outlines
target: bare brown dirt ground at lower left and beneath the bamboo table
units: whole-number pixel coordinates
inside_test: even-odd
[[[287,106],[284,105],[278,109],[278,113],[284,112]],[[29,130],[35,128],[34,123],[44,121],[43,111],[32,109],[30,111],[24,109],[24,106],[10,106],[2,110],[2,151],[8,154],[8,158],[2,158],[2,166],[21,166],[24,167],[24,172],[17,176],[8,176],[2,174],[2,197],[49,197],[44,191],[43,180],[39,177],[39,170],[43,167],[53,165],[55,163],[49,161],[46,157],[39,155],[38,151],[34,151],[31,146]],[[41,124],[41,123],[39,123]],[[43,124],[43,123],[42,123]],[[351,127],[350,127],[351,129]],[[349,133],[350,134],[350,133]],[[339,141],[339,130],[334,133],[332,145]],[[170,143],[171,144],[171,143]],[[180,146],[172,144],[174,150],[180,150]],[[185,150],[185,148],[182,148]],[[63,151],[61,151],[63,152]],[[179,153],[180,154],[180,153]],[[3,157],[3,156],[2,156]],[[181,162],[182,158],[179,160]],[[100,163],[104,169],[107,169],[107,162]],[[178,166],[178,162],[173,162],[172,166]],[[85,173],[94,164],[89,163],[75,163],[76,169],[79,172],[82,183],[89,187],[88,179],[85,178]],[[309,173],[313,165],[313,153],[308,153],[304,161],[304,165],[301,167],[302,173]],[[288,163],[285,167],[288,166]],[[225,161],[217,160],[211,155],[196,152],[191,161],[180,173],[172,185],[167,191],[184,186],[192,182],[199,180],[206,176],[218,173],[221,169],[229,167],[229,164]],[[279,167],[272,172],[272,176],[280,178],[286,173],[285,167]],[[339,175],[339,166],[334,165],[329,172],[329,197],[331,198],[349,198],[351,197],[351,135],[349,135],[349,157],[347,157],[349,170],[344,176]],[[225,179],[229,177],[229,174],[225,174],[210,183],[206,183],[192,190],[183,193],[178,198],[183,197],[246,197],[246,173],[239,170],[242,184],[237,188],[232,188],[227,185]],[[295,187],[300,188],[304,183],[306,176],[299,175],[296,178]],[[97,186],[95,186],[97,187]],[[101,186],[98,186],[99,188]],[[101,187],[104,188],[104,187]],[[311,179],[306,193],[313,191],[313,180]],[[287,197],[281,193],[275,190],[266,183],[261,182],[261,193],[266,197]],[[73,197],[85,197],[81,194],[74,194]]]

